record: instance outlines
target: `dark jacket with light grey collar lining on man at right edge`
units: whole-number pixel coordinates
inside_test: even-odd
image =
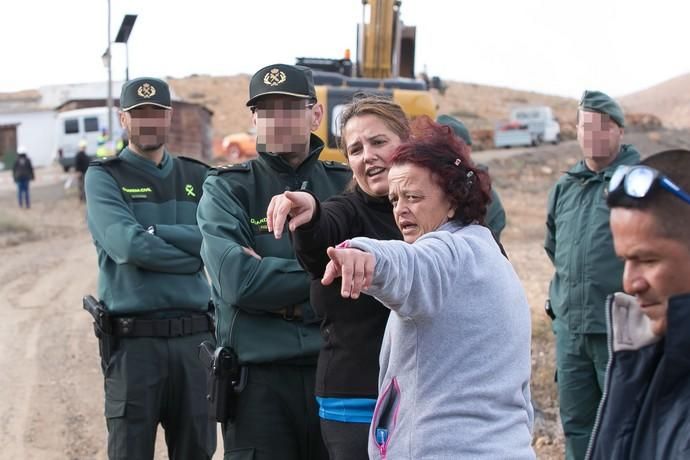
[[[671,298],[664,337],[635,299],[609,299],[611,357],[588,459],[690,458],[690,294]]]

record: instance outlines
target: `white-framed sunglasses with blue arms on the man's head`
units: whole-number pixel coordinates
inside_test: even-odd
[[[616,168],[613,176],[611,176],[608,192],[614,193],[622,189],[631,198],[644,198],[649,194],[654,184],[658,184],[664,190],[690,204],[690,194],[656,169],[644,165],[621,165]]]

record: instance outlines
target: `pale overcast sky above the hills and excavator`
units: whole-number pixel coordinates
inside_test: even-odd
[[[8,6],[9,4],[9,6]],[[107,0],[4,2],[0,92],[107,80]],[[130,76],[251,74],[298,56],[355,55],[361,0],[111,0]],[[687,0],[403,0],[416,72],[578,98],[621,96],[690,72]],[[125,75],[113,45],[113,79]]]

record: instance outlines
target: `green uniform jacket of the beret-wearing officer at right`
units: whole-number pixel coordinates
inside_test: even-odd
[[[622,291],[623,262],[613,249],[605,191],[619,165],[639,161],[634,147],[622,145],[603,171],[593,172],[581,160],[551,190],[544,249],[556,269],[549,286],[554,327],[606,333],[606,296]]]

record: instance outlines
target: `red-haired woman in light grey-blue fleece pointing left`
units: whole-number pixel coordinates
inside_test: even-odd
[[[329,248],[323,284],[388,307],[370,458],[532,459],[530,312],[483,220],[490,184],[428,118],[391,161],[403,241]]]

